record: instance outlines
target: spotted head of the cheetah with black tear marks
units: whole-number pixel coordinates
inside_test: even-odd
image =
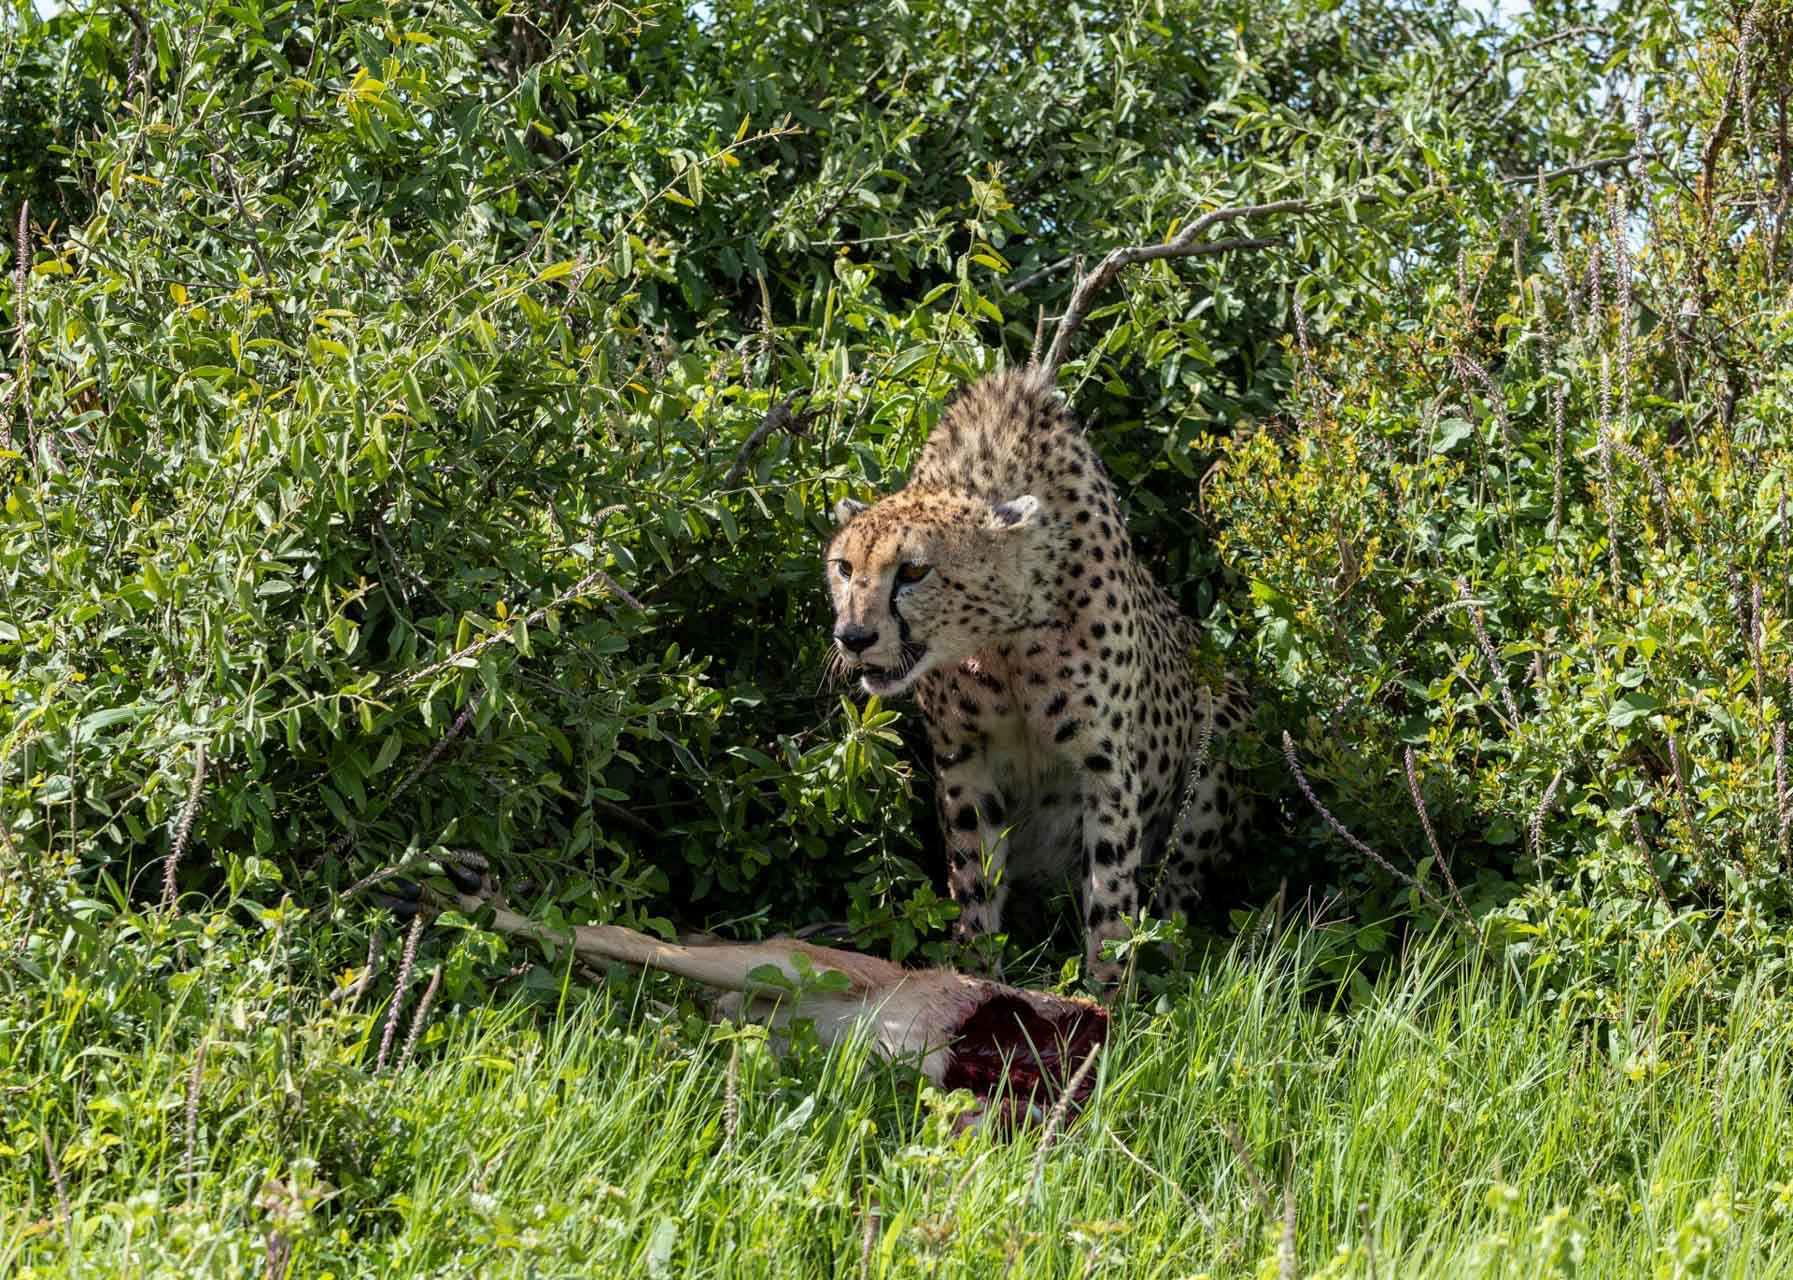
[[[1027,617],[1027,568],[1044,515],[1033,495],[984,502],[904,489],[843,498],[828,543],[837,660],[868,694],[904,694]]]

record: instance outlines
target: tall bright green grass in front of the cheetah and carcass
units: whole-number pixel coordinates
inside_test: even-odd
[[[1042,1155],[660,981],[445,999],[375,1076],[351,921],[5,929],[4,1275],[1793,1273],[1786,999],[1709,1016],[1696,957],[1592,1009],[1442,941],[1345,984],[1289,927],[1124,1009]]]

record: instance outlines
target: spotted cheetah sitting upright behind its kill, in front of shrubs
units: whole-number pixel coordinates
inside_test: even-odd
[[[1194,624],[1133,558],[1101,459],[1033,368],[963,387],[907,486],[843,498],[836,522],[836,660],[868,694],[914,692],[957,939],[1000,930],[1011,889],[1078,878],[1087,973],[1112,988],[1103,943],[1142,895],[1189,911],[1237,839],[1234,778],[1196,757],[1248,717],[1244,690],[1198,685]]]

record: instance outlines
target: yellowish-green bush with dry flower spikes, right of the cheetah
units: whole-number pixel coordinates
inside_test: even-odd
[[[1601,1000],[1633,945],[1780,972],[1793,905],[1793,11],[1621,16],[1605,163],[1463,206],[1212,489],[1336,816],[1431,862],[1411,751],[1486,936]]]

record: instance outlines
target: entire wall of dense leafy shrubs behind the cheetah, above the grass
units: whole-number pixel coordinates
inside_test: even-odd
[[[1447,896],[1332,841],[1289,728],[1402,873],[1411,746],[1468,907],[1542,961],[1777,938],[1775,5],[11,22],[9,909],[152,898],[176,848],[188,889],[312,893],[472,844],[568,914],[845,907],[911,950],[950,911],[927,783],[821,683],[827,511],[1079,256],[1304,199],[1122,278],[1063,378],[1200,660],[1260,690],[1295,825],[1248,869]],[[1538,167],[1576,170],[1547,204]]]

